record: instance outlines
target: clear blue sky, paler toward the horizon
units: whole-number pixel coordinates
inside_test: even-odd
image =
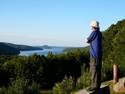
[[[0,0],[0,41],[86,46],[91,20],[101,30],[125,18],[125,0]]]

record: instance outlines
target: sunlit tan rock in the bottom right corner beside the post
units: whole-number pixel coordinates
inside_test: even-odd
[[[125,93],[125,78],[122,78],[113,86],[113,91],[116,93]]]

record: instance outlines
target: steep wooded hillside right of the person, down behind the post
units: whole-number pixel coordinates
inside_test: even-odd
[[[112,24],[103,32],[103,68],[106,71],[106,78],[112,79],[112,66],[119,66],[119,76],[125,75],[125,20]]]

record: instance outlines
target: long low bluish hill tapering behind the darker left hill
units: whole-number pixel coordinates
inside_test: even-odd
[[[6,44],[10,47],[13,47],[13,48],[16,48],[20,51],[27,51],[27,50],[43,50],[42,48],[40,47],[33,47],[33,46],[27,46],[27,45],[17,45],[17,44],[12,44],[12,43],[4,43],[3,44]]]

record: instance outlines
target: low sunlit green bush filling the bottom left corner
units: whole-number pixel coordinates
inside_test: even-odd
[[[8,88],[0,88],[0,94],[40,94],[40,85],[36,82],[29,85],[28,80],[17,78]]]

